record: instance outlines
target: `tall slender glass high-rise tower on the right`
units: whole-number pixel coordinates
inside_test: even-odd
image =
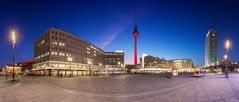
[[[205,65],[217,64],[217,32],[215,28],[209,29],[205,39]]]

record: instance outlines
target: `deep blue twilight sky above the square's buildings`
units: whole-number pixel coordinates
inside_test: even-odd
[[[1,0],[0,67],[12,63],[10,31],[17,31],[16,62],[33,59],[34,41],[49,27],[76,34],[104,51],[123,50],[133,63],[134,15],[138,56],[191,58],[204,65],[205,37],[218,33],[218,59],[230,39],[229,60],[238,61],[239,2],[236,0]]]

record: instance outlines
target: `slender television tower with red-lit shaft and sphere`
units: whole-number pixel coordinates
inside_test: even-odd
[[[134,36],[134,65],[137,65],[138,64],[138,57],[137,57],[137,37],[139,35],[139,32],[138,32],[138,27],[137,27],[137,24],[136,24],[136,17],[135,17],[135,25],[134,25],[134,32],[133,32],[133,36]]]

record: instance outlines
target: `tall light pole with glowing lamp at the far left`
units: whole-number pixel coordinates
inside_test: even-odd
[[[14,73],[14,66],[15,66],[15,43],[16,43],[16,32],[15,31],[12,31],[12,64],[13,64],[13,67],[12,67],[12,81],[15,81],[15,73]]]

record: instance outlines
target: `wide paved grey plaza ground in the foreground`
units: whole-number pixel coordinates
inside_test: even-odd
[[[214,74],[23,77],[0,81],[0,102],[239,102],[239,73],[228,79]]]

